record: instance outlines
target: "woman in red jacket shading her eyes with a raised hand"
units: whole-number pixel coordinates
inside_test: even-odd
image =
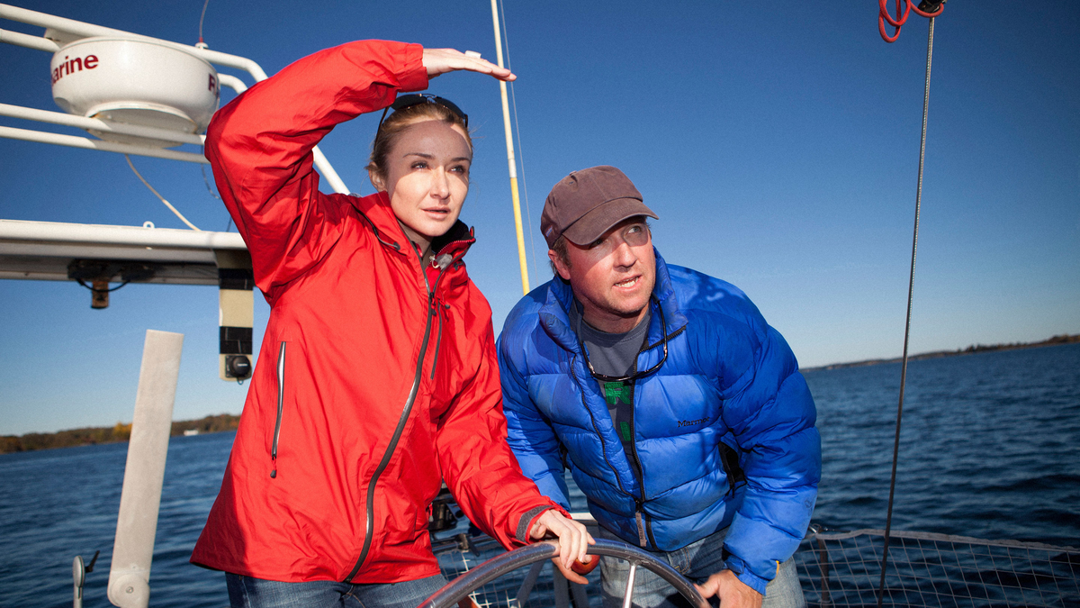
[[[504,546],[592,539],[524,478],[505,442],[487,301],[462,256],[468,118],[427,88],[478,57],[384,41],[296,62],[221,108],[206,157],[271,306],[221,491],[191,561],[233,606],[411,607],[445,584],[428,516],[445,480]],[[312,148],[388,108],[376,194],[319,191]]]

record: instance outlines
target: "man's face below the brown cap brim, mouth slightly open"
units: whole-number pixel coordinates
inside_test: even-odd
[[[636,327],[657,282],[657,259],[645,217],[624,220],[589,244],[567,241],[566,246],[569,264],[554,252],[548,255],[558,275],[570,282],[585,321],[608,333]]]

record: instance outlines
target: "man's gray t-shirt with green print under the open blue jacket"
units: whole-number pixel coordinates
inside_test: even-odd
[[[570,310],[570,327],[585,345],[589,362],[596,373],[604,375],[630,375],[637,371],[637,354],[645,346],[649,332],[649,317],[646,313],[642,322],[625,333],[607,333],[589,325],[582,317],[580,303],[573,302]],[[603,382],[600,388],[607,399],[608,413],[616,434],[626,452],[626,459],[635,468],[638,466],[634,452],[634,383]]]

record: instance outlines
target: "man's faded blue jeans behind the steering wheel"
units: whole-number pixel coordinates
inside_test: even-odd
[[[622,541],[604,528],[600,528],[598,536],[608,540]],[[657,559],[666,561],[691,582],[700,584],[724,569],[724,538],[726,536],[728,536],[727,528],[677,551],[649,553]],[[615,557],[600,558],[600,587],[604,595],[604,608],[622,607],[629,574],[629,563]],[[716,599],[713,598],[712,603],[715,606]],[[690,606],[690,604],[663,579],[645,568],[638,568],[634,574],[634,606],[638,608],[680,608]],[[765,599],[761,603],[761,608],[805,607],[806,599],[802,597],[802,586],[799,584],[798,572],[795,571],[795,559],[789,558],[781,564],[777,578],[769,581],[765,587]]]

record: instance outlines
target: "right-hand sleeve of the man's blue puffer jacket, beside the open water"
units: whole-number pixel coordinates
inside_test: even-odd
[[[821,478],[821,438],[795,355],[764,320],[758,334],[762,340],[753,360],[725,395],[724,421],[735,434],[747,480],[725,547],[731,553],[728,568],[764,594],[810,524]]]

